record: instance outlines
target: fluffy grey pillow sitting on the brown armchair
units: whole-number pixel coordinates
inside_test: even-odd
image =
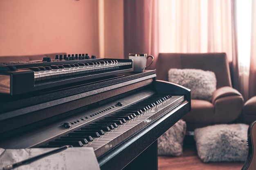
[[[212,71],[200,69],[177,69],[168,71],[168,80],[191,89],[191,99],[202,99],[211,102],[216,91],[216,76]]]

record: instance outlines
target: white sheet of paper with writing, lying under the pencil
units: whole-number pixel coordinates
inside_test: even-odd
[[[43,154],[56,148],[2,149],[0,170],[4,166]],[[2,152],[2,155],[1,155]],[[13,170],[100,170],[93,148],[67,148]]]

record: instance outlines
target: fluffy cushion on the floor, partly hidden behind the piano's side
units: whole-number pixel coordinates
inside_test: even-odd
[[[158,155],[180,156],[183,153],[183,140],[186,134],[186,122],[177,121],[158,138]]]

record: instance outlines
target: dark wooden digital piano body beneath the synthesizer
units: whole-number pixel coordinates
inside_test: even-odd
[[[0,95],[4,127],[0,129],[0,148],[61,146],[62,142],[54,141],[81,127],[93,124],[95,128],[97,121],[106,122],[113,116],[118,127],[102,130],[104,135],[91,137],[88,144],[85,139],[81,147],[94,148],[101,170],[157,169],[157,138],[191,110],[190,90],[156,80],[155,70],[133,72],[129,68],[85,77],[66,85]],[[142,112],[136,115],[131,108]],[[124,118],[118,116],[124,110],[134,117],[125,115],[122,123]]]

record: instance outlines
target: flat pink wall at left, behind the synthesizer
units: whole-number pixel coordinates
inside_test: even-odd
[[[97,0],[0,0],[0,56],[99,56]]]

